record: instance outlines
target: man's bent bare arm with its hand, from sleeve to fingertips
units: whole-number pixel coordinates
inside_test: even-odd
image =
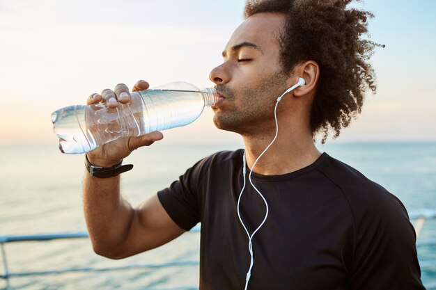
[[[145,89],[145,86],[148,88],[146,83],[143,88],[137,89]],[[118,85],[117,88],[115,92],[104,90],[102,95],[94,94],[88,99],[88,104],[109,102],[111,97],[119,102],[129,102],[130,99],[119,98],[120,92],[126,90],[125,86]],[[118,106],[118,102],[109,102],[109,106]],[[95,166],[114,166],[132,150],[151,145],[162,137],[160,132],[152,132],[140,137],[121,138],[88,152],[88,159]],[[95,252],[111,259],[156,248],[185,232],[166,214],[157,195],[140,204],[137,209],[132,208],[120,195],[119,176],[98,178],[86,172],[84,212]]]

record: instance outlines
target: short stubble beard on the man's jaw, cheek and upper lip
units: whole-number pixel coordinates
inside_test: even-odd
[[[275,124],[276,99],[286,90],[287,77],[279,71],[259,81],[256,86],[242,87],[239,89],[238,100],[235,99],[232,90],[225,85],[218,85],[217,90],[226,95],[226,98],[232,102],[232,106],[225,112],[215,112],[213,119],[215,126],[218,129],[233,131],[241,135],[272,127]]]

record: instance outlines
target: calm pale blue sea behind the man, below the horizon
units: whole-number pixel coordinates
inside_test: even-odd
[[[169,186],[203,157],[241,146],[161,141],[136,150],[125,160],[134,169],[123,174],[123,196],[135,206]],[[387,188],[409,214],[436,211],[436,143],[332,142],[318,148]],[[0,156],[0,236],[86,231],[81,197],[83,154],[61,154],[56,144],[0,145]],[[14,275],[8,281],[0,279],[0,289],[196,289],[199,239],[198,232],[187,232],[160,248],[121,260],[95,255],[86,238],[6,243],[0,274],[4,274],[5,262],[15,274],[73,271]],[[431,239],[436,240],[436,219],[427,220],[419,236],[419,241]],[[417,249],[424,284],[435,284],[436,266],[429,261],[436,260],[436,245]],[[173,261],[189,263],[175,266]]]

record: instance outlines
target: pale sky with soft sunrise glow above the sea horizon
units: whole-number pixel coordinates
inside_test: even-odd
[[[377,94],[338,141],[436,140],[436,1],[367,0]],[[241,0],[0,0],[0,144],[57,143],[50,114],[88,95],[188,81],[210,87],[210,70],[243,21]],[[238,140],[207,109],[178,140]]]

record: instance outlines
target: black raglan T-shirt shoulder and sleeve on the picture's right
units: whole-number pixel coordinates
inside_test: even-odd
[[[353,288],[421,289],[416,235],[403,203],[332,157],[317,169],[341,191],[352,213],[354,250],[349,270]]]

